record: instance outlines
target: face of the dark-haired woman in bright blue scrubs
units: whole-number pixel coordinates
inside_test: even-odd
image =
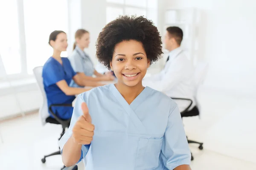
[[[56,40],[50,41],[50,45],[53,49],[58,51],[66,51],[67,50],[67,34],[60,33],[57,35]]]

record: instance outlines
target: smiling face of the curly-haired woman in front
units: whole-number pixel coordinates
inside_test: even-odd
[[[118,82],[133,87],[142,82],[150,65],[141,42],[122,41],[116,44],[110,62]]]

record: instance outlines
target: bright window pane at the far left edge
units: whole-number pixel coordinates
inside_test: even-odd
[[[0,75],[20,74],[20,38],[17,0],[0,1]]]

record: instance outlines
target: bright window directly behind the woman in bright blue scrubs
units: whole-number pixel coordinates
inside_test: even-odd
[[[67,0],[23,0],[28,74],[52,55],[49,35],[54,30],[68,31]],[[47,10],[46,10],[47,9]],[[62,54],[63,57],[63,54]]]

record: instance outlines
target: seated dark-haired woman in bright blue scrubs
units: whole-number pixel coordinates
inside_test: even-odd
[[[82,86],[90,86],[90,82],[76,75],[70,61],[66,57],[61,57],[61,51],[67,49],[67,35],[64,31],[53,31],[49,36],[49,45],[53,48],[53,54],[44,64],[42,73],[48,106],[72,104],[76,94],[81,94],[90,88],[69,87],[71,80]],[[52,110],[61,119],[70,119],[73,113],[73,107],[52,107]],[[50,116],[53,117],[51,113]]]

